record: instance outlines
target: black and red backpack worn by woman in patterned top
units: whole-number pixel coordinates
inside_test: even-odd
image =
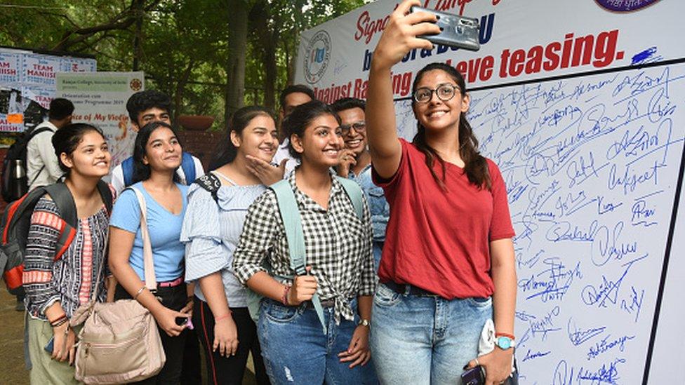
[[[107,214],[112,212],[112,190],[106,182],[98,182],[98,191],[107,208]],[[41,196],[49,194],[60,212],[60,218],[64,221],[60,229],[57,247],[55,248],[54,260],[60,259],[69,245],[74,241],[78,228],[76,203],[71,191],[63,182],[58,182],[44,187],[36,187],[28,194],[22,196],[7,206],[0,218],[0,269],[7,290],[13,295],[22,295],[22,275],[24,272],[24,255],[26,242],[31,225],[31,216]]]

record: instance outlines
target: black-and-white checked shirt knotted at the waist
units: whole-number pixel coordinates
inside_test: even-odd
[[[335,299],[335,321],[354,320],[350,299],[373,295],[375,273],[371,249],[371,219],[364,197],[364,221],[357,217],[352,201],[340,182],[333,178],[328,210],[302,193],[295,185],[295,173],[288,177],[300,208],[307,265],[317,278],[321,300]],[[248,209],[243,232],[233,255],[233,271],[245,284],[269,258],[272,276],[293,276],[288,242],[276,194],[265,191]],[[291,284],[291,280],[281,279]]]

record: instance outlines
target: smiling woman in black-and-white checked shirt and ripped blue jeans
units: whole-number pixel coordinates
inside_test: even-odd
[[[279,213],[286,203],[273,189],[248,209],[233,259],[239,281],[264,296],[258,336],[267,373],[272,384],[374,384],[366,365],[375,285],[371,220],[359,186],[352,182],[361,217],[342,185],[348,181],[331,175],[344,147],[340,119],[312,101],[295,107],[283,128],[301,161],[280,184],[296,205],[284,210],[301,219],[307,266],[291,264],[288,242],[295,239],[286,236]]]

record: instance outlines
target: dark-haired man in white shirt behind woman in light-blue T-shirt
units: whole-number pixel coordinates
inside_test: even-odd
[[[171,99],[157,90],[144,90],[134,93],[128,98],[128,102],[126,102],[126,110],[128,111],[128,116],[131,118],[131,127],[136,133],[138,133],[138,130],[140,130],[142,126],[153,121],[163,121],[164,123],[171,124],[171,116],[169,116]],[[189,156],[189,154],[184,154],[184,156]],[[124,162],[126,162],[126,160]],[[121,193],[121,191],[126,188],[126,179],[131,178],[131,175],[128,175],[128,178],[124,177],[124,168],[122,167],[124,162],[112,170],[112,187],[117,191],[117,194]],[[194,179],[204,175],[204,168],[202,168],[200,160],[195,156],[192,156],[192,163],[195,173]],[[193,182],[192,180],[187,180],[188,178],[185,175],[183,167],[179,167],[178,170],[176,170],[176,173],[178,174],[178,177],[180,177],[180,182],[182,184],[190,184]]]

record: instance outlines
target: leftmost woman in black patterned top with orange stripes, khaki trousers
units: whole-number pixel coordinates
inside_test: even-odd
[[[29,315],[31,383],[78,384],[71,366],[77,333],[69,327],[69,318],[91,300],[94,290],[98,290],[98,300],[105,300],[109,212],[98,182],[109,173],[111,156],[102,131],[84,123],[60,128],[52,142],[66,175],[63,183],[74,199],[78,224],[69,248],[55,260],[65,219],[49,194],[39,199],[31,217],[22,276]],[[97,281],[100,288],[95,288]]]

